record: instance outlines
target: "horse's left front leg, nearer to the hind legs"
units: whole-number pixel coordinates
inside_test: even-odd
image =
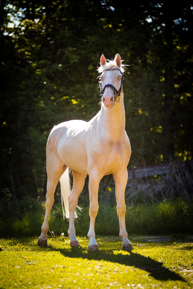
[[[90,207],[89,207],[89,216],[90,216],[90,227],[88,231],[88,238],[89,238],[89,245],[88,250],[97,250],[98,245],[95,240],[95,231],[94,231],[94,224],[96,215],[98,213],[99,204],[98,204],[98,190],[99,190],[99,172],[93,171],[89,174],[89,200],[90,200]]]

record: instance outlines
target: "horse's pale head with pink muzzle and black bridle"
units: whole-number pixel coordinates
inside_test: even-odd
[[[115,104],[117,97],[120,98],[124,77],[122,75],[123,67],[121,66],[121,57],[115,55],[114,61],[106,62],[106,58],[102,54],[100,57],[100,89],[102,95],[102,103],[106,108],[111,108]],[[119,101],[119,99],[118,99]]]

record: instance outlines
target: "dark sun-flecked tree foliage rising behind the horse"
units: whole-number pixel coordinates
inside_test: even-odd
[[[188,1],[1,1],[1,193],[43,199],[49,130],[99,110],[102,53],[130,64],[131,163],[191,159],[192,11]]]

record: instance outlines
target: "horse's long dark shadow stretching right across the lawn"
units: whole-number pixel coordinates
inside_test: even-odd
[[[167,280],[179,280],[186,282],[179,274],[172,272],[170,269],[163,266],[163,263],[155,261],[150,257],[145,257],[139,253],[133,253],[132,251],[128,254],[122,254],[119,251],[116,254],[107,252],[106,250],[100,249],[99,251],[87,251],[85,253],[84,247],[77,247],[69,249],[56,249],[49,246],[51,250],[59,251],[62,255],[69,258],[83,258],[88,260],[104,260],[112,263],[119,263],[125,266],[134,266],[135,268],[146,271],[154,279],[167,281]]]

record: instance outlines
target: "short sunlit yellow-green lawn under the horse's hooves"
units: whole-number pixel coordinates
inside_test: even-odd
[[[0,288],[192,288],[192,238],[131,237],[134,250],[121,250],[112,236],[97,239],[99,251],[87,251],[88,240],[70,248],[68,237],[0,239]],[[31,264],[27,264],[30,262]]]

